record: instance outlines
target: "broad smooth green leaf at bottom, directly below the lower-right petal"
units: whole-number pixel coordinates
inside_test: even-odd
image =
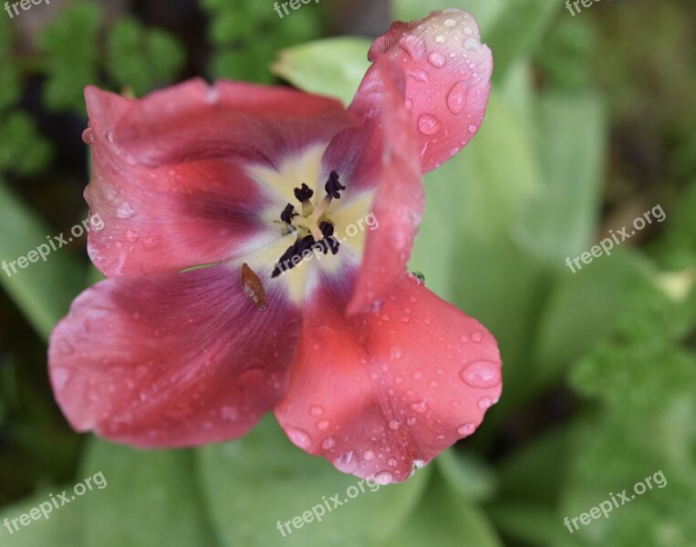
[[[272,416],[243,439],[205,447],[198,455],[213,522],[229,546],[326,547],[386,539],[408,518],[429,475],[426,468],[403,483],[380,486],[343,474],[297,449]],[[342,505],[334,508],[328,500],[337,495]],[[313,508],[326,512],[321,522],[314,516],[301,521]],[[284,537],[278,527],[296,517],[302,527],[290,524]]]

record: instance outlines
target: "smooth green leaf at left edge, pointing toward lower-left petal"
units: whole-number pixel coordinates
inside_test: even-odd
[[[61,249],[49,249],[46,261],[39,258],[36,263],[27,263],[26,269],[16,264],[16,274],[11,263],[47,244],[51,232],[55,230],[0,181],[0,261],[8,264],[11,274],[0,271],[0,284],[45,340],[58,319],[68,312],[72,298],[84,288],[83,273]]]

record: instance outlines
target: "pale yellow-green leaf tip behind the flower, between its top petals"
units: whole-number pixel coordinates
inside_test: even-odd
[[[271,71],[297,88],[348,105],[369,68],[370,40],[338,37],[282,50]]]

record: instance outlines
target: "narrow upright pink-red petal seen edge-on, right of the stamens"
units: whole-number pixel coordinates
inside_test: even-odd
[[[324,159],[327,170],[346,173],[348,198],[376,186],[372,213],[379,226],[368,233],[349,314],[369,311],[406,273],[425,207],[418,143],[403,106],[403,74],[379,57],[351,106],[363,113],[363,127],[334,139]]]

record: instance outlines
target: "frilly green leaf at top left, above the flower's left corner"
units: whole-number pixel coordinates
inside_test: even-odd
[[[49,108],[84,114],[83,89],[98,79],[101,17],[98,5],[70,5],[38,36],[38,46],[47,56],[45,100]]]

